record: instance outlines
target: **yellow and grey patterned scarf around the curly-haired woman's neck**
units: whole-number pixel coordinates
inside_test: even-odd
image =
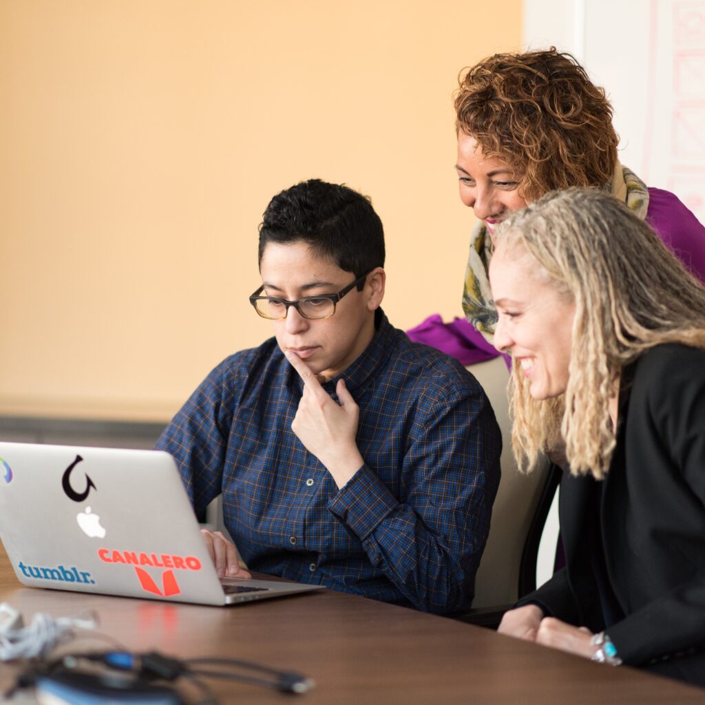
[[[649,192],[646,184],[630,169],[619,162],[605,190],[623,201],[639,218],[646,218]],[[478,221],[470,236],[470,255],[465,271],[465,288],[462,292],[462,310],[467,320],[485,337],[488,343],[494,338],[497,311],[492,301],[487,270],[494,246],[482,221]]]

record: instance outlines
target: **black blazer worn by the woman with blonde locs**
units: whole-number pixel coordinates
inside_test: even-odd
[[[519,604],[603,630],[601,532],[618,655],[705,685],[705,350],[660,345],[625,369],[604,485],[567,472],[559,507],[566,566]]]

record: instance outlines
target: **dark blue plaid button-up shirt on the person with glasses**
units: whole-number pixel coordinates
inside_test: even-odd
[[[379,312],[341,376],[365,464],[338,489],[291,430],[302,395],[276,340],[228,357],[157,448],[197,512],[223,517],[250,570],[444,613],[470,605],[499,483],[501,435],[462,365]],[[337,379],[324,385],[336,398]]]

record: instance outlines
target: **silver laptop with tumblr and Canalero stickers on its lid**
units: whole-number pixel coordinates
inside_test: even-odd
[[[171,455],[0,442],[0,540],[30,587],[226,605],[322,589],[219,580]]]

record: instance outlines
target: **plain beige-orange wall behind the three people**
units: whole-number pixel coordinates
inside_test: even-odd
[[[269,198],[372,196],[384,307],[460,315],[462,66],[521,0],[0,0],[0,412],[166,419],[269,336],[247,295]]]

